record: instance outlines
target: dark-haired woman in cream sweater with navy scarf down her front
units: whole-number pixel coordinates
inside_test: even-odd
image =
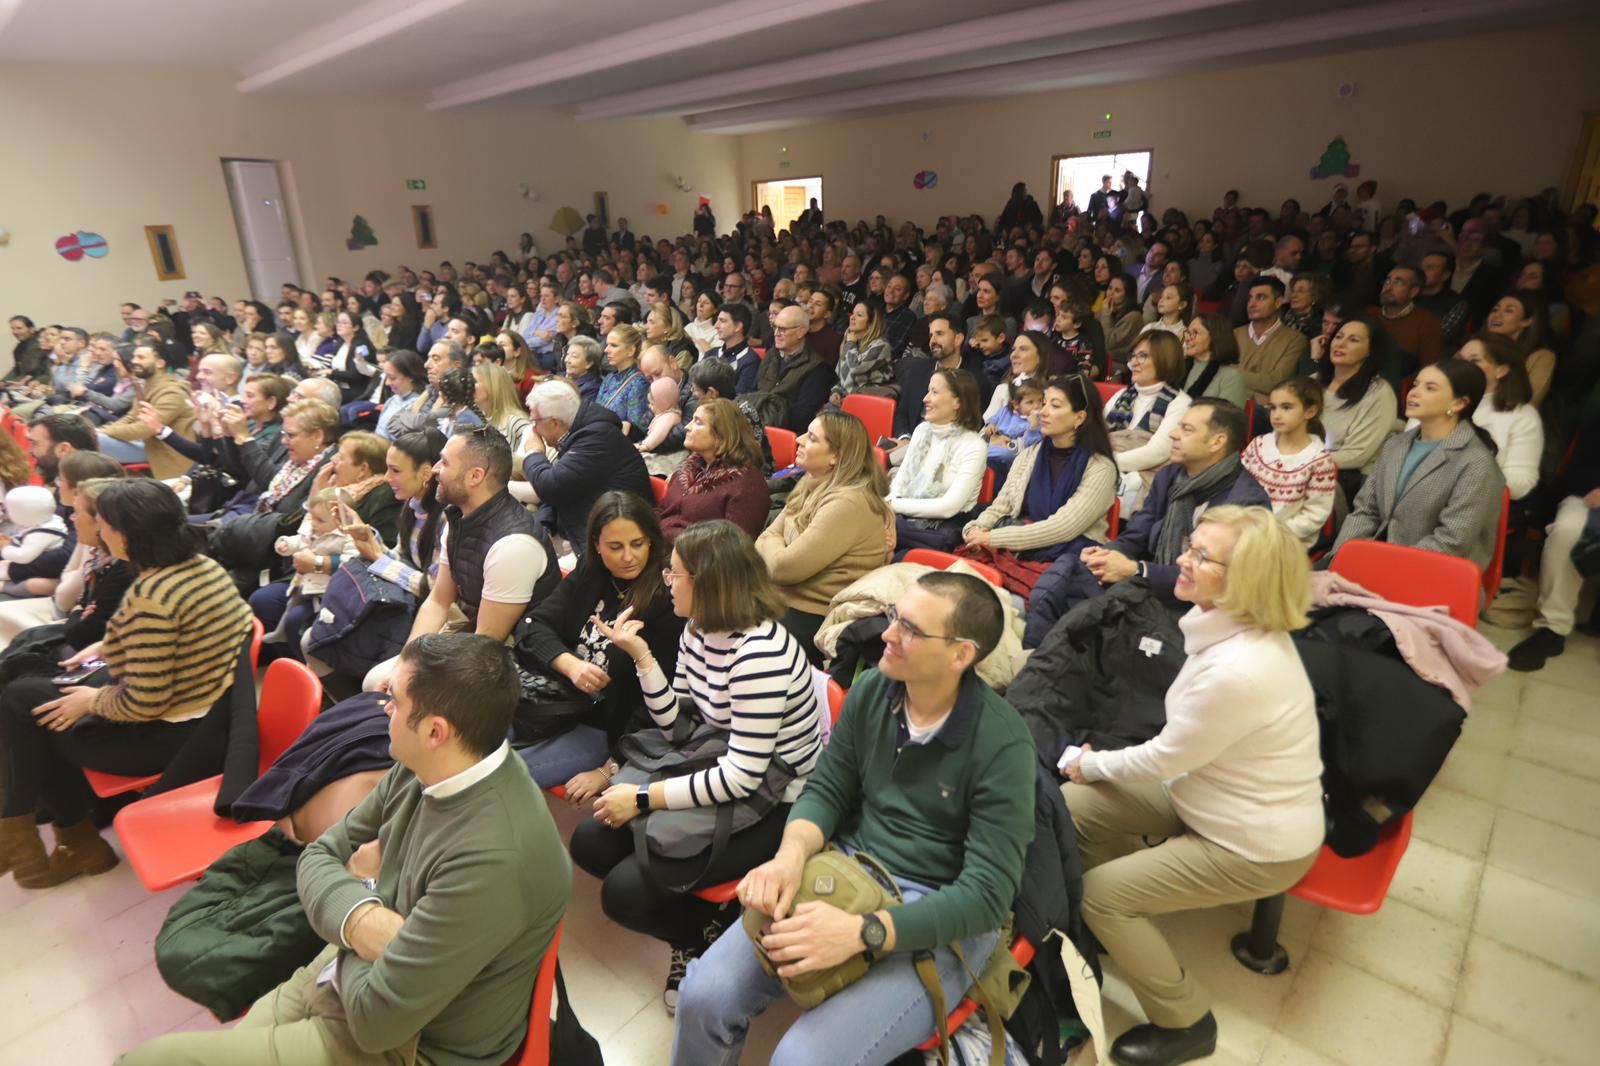
[[[1099,392],[1086,376],[1045,384],[1038,429],[1045,439],[1018,453],[994,503],[962,530],[958,552],[992,563],[1022,597],[1061,555],[1106,543],[1117,493]]]

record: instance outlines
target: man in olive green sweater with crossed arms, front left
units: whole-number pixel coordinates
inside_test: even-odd
[[[328,948],[234,1028],[160,1037],[123,1066],[501,1066],[528,1029],[571,864],[522,759],[506,648],[418,637],[389,704],[398,765],[306,848],[299,895]]]

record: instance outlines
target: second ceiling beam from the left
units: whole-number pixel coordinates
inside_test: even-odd
[[[790,22],[850,8],[869,6],[877,0],[733,0],[718,6],[680,14],[653,26],[606,34],[587,45],[534,56],[498,70],[451,82],[434,90],[429,107],[443,110],[477,104],[496,96],[520,93],[541,85],[554,85],[600,70],[613,70],[635,62],[664,59],[686,48],[704,48],[747,34],[774,32]],[[662,77],[670,66],[662,67]]]

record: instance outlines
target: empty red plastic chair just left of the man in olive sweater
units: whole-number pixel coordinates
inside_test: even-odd
[[[267,767],[294,743],[322,709],[322,682],[293,659],[267,667],[256,707],[259,757],[256,771]],[[237,823],[213,810],[222,776],[186,784],[150,795],[117,812],[112,823],[128,864],[150,892],[162,892],[205,872],[224,852],[254,840],[272,828],[270,821]]]

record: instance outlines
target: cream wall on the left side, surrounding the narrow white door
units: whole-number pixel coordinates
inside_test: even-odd
[[[190,288],[245,295],[224,157],[286,163],[302,283],[514,253],[523,230],[552,248],[555,210],[586,214],[597,190],[610,192],[611,218],[627,216],[635,234],[686,232],[701,194],[728,208],[747,195],[736,182],[738,141],[675,118],[440,114],[421,98],[242,96],[234,80],[210,69],[85,67],[62,77],[48,66],[0,66],[0,226],[11,232],[0,245],[0,314],[120,330],[125,299],[154,306]],[[693,192],[678,192],[672,174]],[[406,190],[408,178],[427,190]],[[539,200],[522,198],[518,184]],[[413,203],[434,206],[437,250],[418,250]],[[376,246],[346,248],[355,214]],[[184,280],[155,279],[144,227],[158,224],[176,229]],[[109,254],[58,256],[56,238],[80,229],[106,237]]]

